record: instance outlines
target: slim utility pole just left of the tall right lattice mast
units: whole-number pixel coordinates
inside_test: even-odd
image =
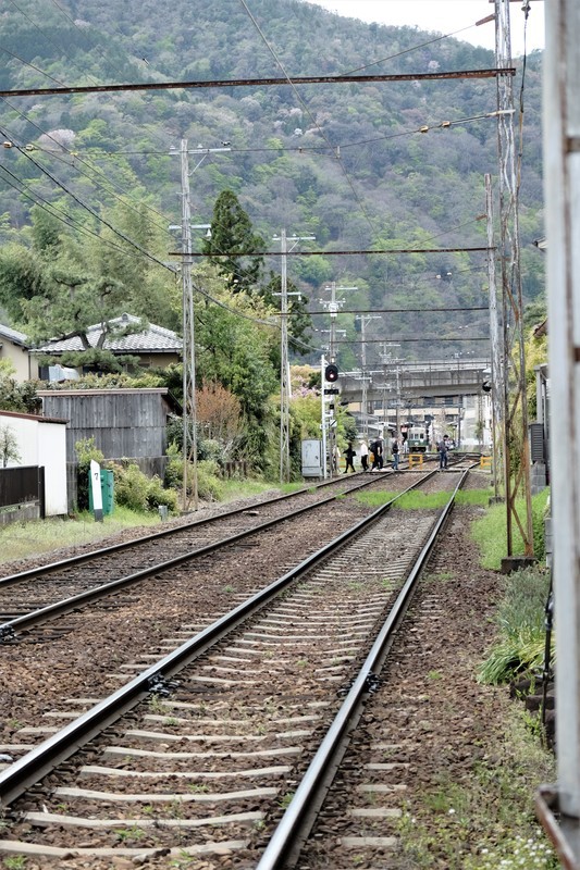
[[[493,229],[492,176],[485,175],[485,215],[488,225],[488,281],[490,285],[490,337],[492,349],[491,399],[492,399],[492,456],[495,500],[503,490],[504,445],[504,368],[497,312],[497,283],[495,276],[495,236]]]

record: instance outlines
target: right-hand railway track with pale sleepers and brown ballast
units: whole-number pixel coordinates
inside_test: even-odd
[[[433,486],[453,488],[459,476],[434,475]],[[112,701],[69,697],[44,724],[22,729],[21,744],[0,749],[25,753],[0,774],[12,821],[0,849],[88,858],[95,868],[113,857],[145,856],[161,867],[178,855],[211,854],[255,866],[282,807],[289,803],[295,812],[293,794],[341,716],[343,696],[354,693],[359,705],[372,687],[369,637],[390,636],[400,619],[421,570],[411,568],[417,550],[424,562],[432,547],[425,542],[434,542],[434,514],[400,512],[393,521],[381,509],[211,629],[192,638],[183,625],[180,637],[165,641],[172,650],[160,663],[149,664],[159,651],[132,663],[136,676]],[[385,637],[372,652],[378,663]],[[116,676],[125,681],[126,671]],[[54,724],[77,714],[64,729]],[[25,741],[38,731],[48,738],[30,748]]]

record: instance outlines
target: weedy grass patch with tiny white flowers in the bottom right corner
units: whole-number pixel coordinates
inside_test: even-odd
[[[555,779],[554,759],[529,733],[516,708],[504,734],[459,780],[442,767],[399,823],[403,850],[416,870],[556,870],[533,811],[539,782]]]

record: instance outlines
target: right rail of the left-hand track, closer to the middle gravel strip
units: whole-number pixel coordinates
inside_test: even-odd
[[[434,472],[431,472],[431,474],[433,473]],[[428,480],[428,476],[429,475],[423,477],[418,483],[422,483],[422,481]],[[374,483],[374,480],[370,480],[368,482],[361,483],[358,486],[354,486],[351,489],[349,489],[349,492],[353,493],[356,492],[357,489],[370,486],[372,483]],[[284,517],[276,517],[273,520],[266,520],[266,522],[259,523],[258,525],[254,525],[251,529],[246,529],[243,532],[236,532],[236,534],[221,538],[220,540],[217,540],[212,544],[206,544],[203,547],[198,547],[195,550],[189,550],[188,552],[182,552],[180,556],[174,556],[172,559],[168,559],[164,562],[157,562],[156,564],[149,566],[148,568],[144,568],[140,571],[135,571],[133,574],[127,574],[124,577],[119,577],[118,580],[113,580],[110,583],[103,583],[100,586],[95,586],[91,589],[87,589],[86,592],[73,595],[70,598],[63,598],[60,601],[54,601],[53,604],[47,605],[46,607],[41,607],[38,610],[32,610],[29,613],[25,613],[22,617],[15,617],[14,619],[8,620],[7,622],[0,624],[0,644],[12,642],[15,638],[18,631],[22,632],[26,629],[32,629],[34,625],[38,625],[42,622],[48,622],[51,619],[55,619],[57,617],[62,617],[64,616],[64,613],[70,613],[72,610],[77,610],[79,607],[92,604],[94,601],[98,601],[101,598],[106,598],[109,595],[113,595],[120,589],[124,589],[127,586],[133,585],[134,583],[139,583],[143,580],[147,580],[148,577],[153,576],[153,574],[159,574],[164,571],[169,571],[170,569],[176,568],[177,566],[190,561],[192,559],[197,559],[202,556],[207,556],[208,554],[214,552],[215,550],[219,550],[222,547],[227,547],[232,544],[235,544],[238,540],[243,540],[244,538],[250,537],[251,535],[264,532],[266,530],[274,525],[277,525],[279,523],[285,522],[286,520],[295,519],[296,517],[299,517],[301,513],[307,513],[310,510],[314,510],[316,508],[319,508],[321,505],[328,505],[331,501],[335,501],[338,495],[343,494],[337,493],[336,495],[329,496],[328,498],[323,498],[320,501],[316,501],[312,505],[306,505],[303,508],[298,508],[297,510],[293,511],[292,513],[287,513]]]

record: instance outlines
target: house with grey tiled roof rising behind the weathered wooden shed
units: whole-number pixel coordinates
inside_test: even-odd
[[[139,318],[134,318],[132,314],[122,314],[120,318],[114,318],[110,321],[114,325],[123,326],[125,324],[138,324]],[[87,331],[87,338],[91,347],[97,347],[99,339],[102,336],[101,324],[89,326]],[[164,369],[172,363],[181,362],[183,343],[182,339],[172,330],[165,330],[164,326],[156,326],[150,324],[141,332],[132,333],[124,336],[108,336],[102,345],[103,350],[109,350],[116,357],[131,355],[139,358],[139,365],[143,369],[161,368]],[[78,336],[73,338],[54,338],[47,341],[40,347],[34,348],[30,353],[34,356],[50,356],[59,357],[62,353],[71,351],[82,351],[83,343]],[[55,372],[50,372],[52,366],[40,366],[39,373],[44,381],[62,381],[66,380],[66,370],[62,366],[54,366]],[[91,368],[82,366],[78,373],[85,374],[91,371]],[[69,373],[69,377],[71,374]]]

